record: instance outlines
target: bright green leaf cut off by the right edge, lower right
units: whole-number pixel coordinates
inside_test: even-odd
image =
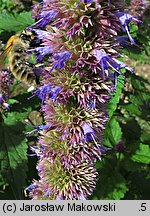
[[[150,147],[149,145],[140,144],[139,149],[131,156],[131,159],[138,163],[150,163]]]

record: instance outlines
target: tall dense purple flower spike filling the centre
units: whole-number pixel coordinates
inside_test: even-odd
[[[135,44],[129,23],[140,22],[123,8],[113,0],[43,0],[33,9],[28,29],[40,45],[28,52],[44,65],[33,95],[45,118],[32,149],[40,157],[40,180],[27,188],[33,199],[87,199],[93,192],[95,161],[107,151],[105,104],[130,70],[119,59],[120,41]],[[122,30],[128,37],[118,35]]]

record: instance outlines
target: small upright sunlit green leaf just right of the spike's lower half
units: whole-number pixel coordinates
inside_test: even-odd
[[[115,118],[112,118],[105,130],[104,145],[112,147],[122,139],[122,130]]]

